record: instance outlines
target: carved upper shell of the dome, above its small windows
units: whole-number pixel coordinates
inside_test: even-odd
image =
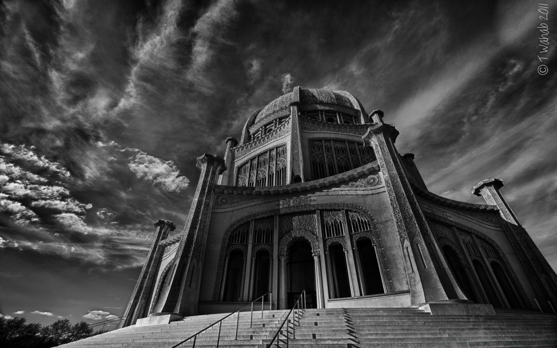
[[[300,89],[300,104],[325,103],[325,104],[336,104],[336,105],[350,107],[351,109],[356,109],[358,106],[354,105],[345,94],[348,93],[343,91],[331,92],[327,90],[317,90],[317,89],[307,89],[307,90]],[[262,119],[265,119],[267,116],[275,113],[276,116],[281,116],[282,114],[287,114],[288,112],[290,112],[288,110],[288,107],[292,102],[293,95],[294,92],[290,92],[271,101],[257,115],[254,123],[257,123]]]

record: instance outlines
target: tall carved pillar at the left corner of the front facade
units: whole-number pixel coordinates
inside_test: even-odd
[[[160,312],[174,312],[182,315],[197,315],[199,302],[199,282],[203,271],[203,257],[207,243],[211,207],[213,205],[213,188],[218,175],[226,169],[224,161],[217,155],[204,154],[197,158],[197,168],[201,169],[196,194],[193,197],[192,207],[189,210],[188,220],[184,231],[180,234],[180,242],[173,263],[179,267],[174,268],[170,276],[170,289],[164,298],[159,298],[162,306]],[[185,286],[192,261],[197,267],[191,277],[197,280],[197,285]],[[195,273],[195,274],[193,274]],[[163,297],[163,296],[161,296]]]

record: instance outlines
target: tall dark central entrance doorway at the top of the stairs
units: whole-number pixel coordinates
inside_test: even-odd
[[[288,308],[292,308],[304,290],[306,291],[307,308],[317,308],[315,266],[309,242],[300,240],[290,246],[289,259],[286,264],[286,280]]]

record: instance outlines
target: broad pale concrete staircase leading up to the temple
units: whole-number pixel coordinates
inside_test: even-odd
[[[262,348],[270,342],[287,311],[242,312],[223,321],[219,345]],[[62,345],[64,348],[170,348],[226,314],[187,317],[168,325],[125,327]],[[417,308],[309,309],[296,321],[292,347],[557,347],[557,316],[539,312],[498,311],[496,316],[438,315]],[[203,332],[196,347],[216,347],[218,325]],[[286,330],[286,329],[285,329]],[[280,346],[286,347],[286,331]],[[193,340],[192,340],[193,341]],[[192,341],[183,347],[191,347]],[[273,345],[274,347],[275,345]]]

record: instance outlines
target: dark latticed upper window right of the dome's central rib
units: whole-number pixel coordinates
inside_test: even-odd
[[[309,145],[313,180],[344,173],[375,161],[373,149],[362,143],[312,139]]]

